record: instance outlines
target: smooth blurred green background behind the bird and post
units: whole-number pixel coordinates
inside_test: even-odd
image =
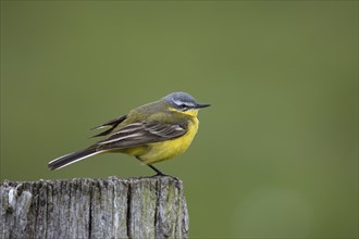
[[[1,1],[1,179],[152,175],[47,163],[178,90],[212,104],[157,165],[191,237],[358,237],[357,1]]]

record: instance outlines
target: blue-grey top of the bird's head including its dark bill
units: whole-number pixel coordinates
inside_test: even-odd
[[[173,92],[164,98],[162,100],[165,100],[169,102],[173,108],[180,111],[187,111],[191,109],[200,109],[200,108],[207,108],[210,106],[210,104],[200,104],[198,103],[195,98],[193,98],[189,93],[186,92]]]

